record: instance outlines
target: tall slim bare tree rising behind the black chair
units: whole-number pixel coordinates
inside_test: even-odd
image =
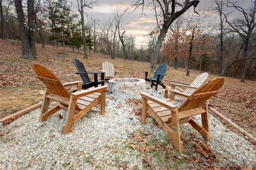
[[[86,0],[80,0],[80,3],[77,0],[77,5],[78,5],[78,11],[80,12],[81,15],[81,21],[82,21],[82,39],[83,39],[83,48],[84,48],[84,59],[88,59],[87,56],[87,47],[86,47],[86,39],[85,39],[85,27],[84,27],[84,7],[88,8],[93,8],[93,6],[96,6],[98,0],[96,1],[86,1]]]

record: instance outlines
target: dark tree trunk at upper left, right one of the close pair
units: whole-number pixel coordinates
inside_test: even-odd
[[[32,55],[34,58],[36,58],[37,53],[36,53],[36,45],[34,41],[34,31],[33,31],[33,29],[36,29],[36,28],[34,27],[33,16],[34,16],[34,0],[28,0],[28,25],[32,27],[32,30],[28,29],[28,41],[29,41]]]

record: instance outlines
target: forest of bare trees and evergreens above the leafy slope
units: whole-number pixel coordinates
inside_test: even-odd
[[[84,59],[88,59],[87,53],[94,51],[111,55],[112,59],[119,57],[124,61],[130,59],[150,62],[151,71],[156,68],[156,64],[167,63],[175,69],[185,68],[187,76],[192,69],[241,78],[242,82],[245,79],[256,80],[255,0],[170,1],[175,2],[175,10],[178,12],[184,10],[188,2],[196,8],[192,6],[186,9],[186,13],[178,16],[168,27],[164,37],[160,37],[168,20],[165,18],[168,13],[164,10],[172,9],[171,4],[166,5],[165,1],[146,1],[148,4],[142,4],[146,3],[144,1],[124,1],[122,6],[114,6],[112,3],[117,1],[109,1],[107,5],[112,5],[111,13],[108,20],[104,21],[100,18],[106,16],[88,15],[91,14],[90,10],[97,11],[97,6],[106,3],[103,0],[16,1],[23,7],[20,9],[23,16],[17,13],[17,3],[13,0],[0,2],[1,38],[20,39],[19,28],[22,27],[22,31],[26,30],[28,34],[32,49],[33,56],[30,59],[36,59],[33,45],[36,42],[41,43],[42,47],[50,44],[63,49],[78,49],[78,52],[82,50],[85,52]],[[210,7],[202,8],[205,4]],[[129,20],[127,16],[134,13],[149,15],[148,9],[155,18],[150,18],[154,24],[143,35],[147,41],[144,39],[142,45],[135,36],[136,31],[126,31],[129,30],[126,20]],[[213,17],[215,21],[212,21]],[[146,20],[140,21],[141,18],[137,19],[140,24],[148,24]],[[162,43],[158,42],[161,38]],[[162,48],[156,56],[158,44]]]

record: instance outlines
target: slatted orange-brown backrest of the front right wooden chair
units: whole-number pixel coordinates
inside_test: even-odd
[[[180,106],[179,111],[185,111],[201,107],[211,96],[218,93],[218,90],[223,86],[224,78],[217,77],[208,83],[203,84],[195,90],[193,94]]]

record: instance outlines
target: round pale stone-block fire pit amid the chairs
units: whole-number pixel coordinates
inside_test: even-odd
[[[108,80],[108,92],[138,96],[139,92],[146,91],[146,81],[139,78],[115,78]]]

